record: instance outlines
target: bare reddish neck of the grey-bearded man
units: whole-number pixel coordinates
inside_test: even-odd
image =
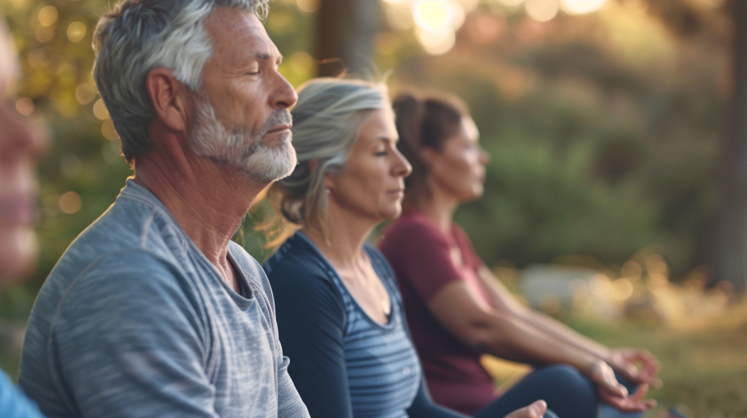
[[[223,280],[238,290],[227,259],[229,240],[267,184],[208,158],[164,152],[137,157],[134,181],[161,200]]]

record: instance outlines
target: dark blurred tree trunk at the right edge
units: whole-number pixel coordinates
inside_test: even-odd
[[[734,16],[734,101],[719,159],[719,203],[710,241],[714,281],[747,284],[747,1],[731,4]]]

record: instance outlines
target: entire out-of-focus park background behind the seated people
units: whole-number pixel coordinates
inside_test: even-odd
[[[22,63],[16,108],[54,139],[39,267],[0,296],[11,373],[44,278],[131,174],[91,78],[111,3],[0,0]],[[647,417],[746,417],[745,3],[274,0],[266,28],[295,86],[347,68],[465,99],[492,160],[457,219],[498,277],[591,337],[658,355]],[[236,237],[260,261],[272,216],[257,202]],[[499,385],[525,370],[486,364]]]

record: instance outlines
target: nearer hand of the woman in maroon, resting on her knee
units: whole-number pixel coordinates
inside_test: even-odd
[[[599,399],[620,412],[642,412],[656,406],[654,399],[643,399],[648,384],[641,384],[632,396],[615,378],[615,372],[609,364],[597,361],[589,370],[589,379],[597,385]]]

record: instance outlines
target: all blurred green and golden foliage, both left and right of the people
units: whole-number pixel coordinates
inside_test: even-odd
[[[303,1],[306,10],[312,3]],[[728,24],[706,9],[713,31],[682,39],[640,4],[610,0],[596,13],[545,23],[480,4],[456,46],[436,57],[412,31],[385,26],[376,37],[374,62],[393,70],[393,92],[447,90],[471,107],[492,161],[485,196],[457,219],[489,265],[583,254],[614,266],[648,246],[675,276],[698,263],[731,88]],[[109,5],[0,0],[21,58],[19,98],[33,102],[32,116],[43,116],[53,138],[41,166],[40,266],[25,288],[0,296],[6,318],[25,318],[64,249],[131,175],[90,76],[91,34]],[[485,22],[490,31],[475,29]],[[314,14],[276,0],[266,28],[291,83],[311,78]],[[255,227],[272,216],[260,202],[236,237],[259,259],[271,249]]]

